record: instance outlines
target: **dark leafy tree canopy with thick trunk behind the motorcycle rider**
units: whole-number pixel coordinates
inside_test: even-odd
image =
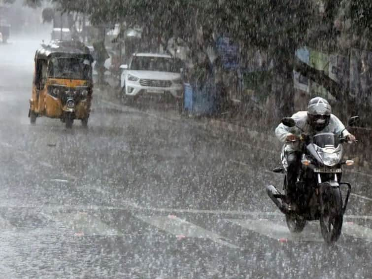
[[[28,0],[39,2],[40,0]],[[52,0],[63,11],[86,14],[95,25],[126,22],[143,28],[143,38],[151,47],[180,36],[193,52],[201,44],[213,44],[220,34],[231,37],[245,50],[260,49],[274,61],[274,117],[288,115],[293,107],[293,69],[315,80],[338,100],[344,91],[324,72],[295,58],[296,49],[309,45],[325,52],[347,52],[340,48],[344,27],[357,37],[371,37],[372,2],[365,0]],[[321,3],[322,5],[319,5]],[[340,14],[343,11],[343,14]],[[346,18],[348,23],[339,20]],[[343,30],[339,25],[342,23]],[[200,39],[202,34],[202,39]],[[363,42],[369,48],[369,39]],[[367,41],[367,42],[366,42]]]

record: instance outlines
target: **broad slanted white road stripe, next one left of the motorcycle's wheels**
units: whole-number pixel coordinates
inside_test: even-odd
[[[176,216],[142,216],[137,215],[138,219],[152,226],[155,226],[163,231],[175,235],[177,238],[205,238],[215,243],[226,245],[230,248],[237,249],[238,246],[225,241],[222,236],[211,231],[205,230],[200,226],[190,223],[186,220],[180,219]]]

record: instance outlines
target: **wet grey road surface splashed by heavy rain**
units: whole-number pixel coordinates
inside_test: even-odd
[[[257,152],[95,96],[88,128],[27,117],[38,42],[0,46],[2,278],[370,278],[371,170],[343,234],[289,234]],[[159,108],[160,110],[160,108]]]

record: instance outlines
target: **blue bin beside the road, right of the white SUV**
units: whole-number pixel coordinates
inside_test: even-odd
[[[217,108],[215,98],[216,88],[205,84],[202,88],[190,83],[184,83],[184,108],[186,111],[198,115],[212,115]]]

